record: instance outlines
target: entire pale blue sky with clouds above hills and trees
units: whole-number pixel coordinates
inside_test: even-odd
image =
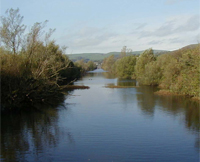
[[[66,53],[175,50],[200,42],[199,0],[1,0],[1,15],[19,8],[27,29],[46,30]]]

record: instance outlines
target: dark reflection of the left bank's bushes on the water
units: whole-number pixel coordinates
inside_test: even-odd
[[[38,161],[40,153],[55,148],[63,136],[68,143],[73,143],[71,133],[58,126],[59,108],[67,110],[61,104],[63,99],[52,106],[38,107],[38,110],[2,114],[1,160]]]

